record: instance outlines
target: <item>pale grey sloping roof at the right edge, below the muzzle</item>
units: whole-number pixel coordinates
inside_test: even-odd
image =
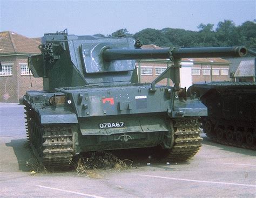
[[[234,77],[249,77],[255,75],[254,60],[244,60],[240,62]]]

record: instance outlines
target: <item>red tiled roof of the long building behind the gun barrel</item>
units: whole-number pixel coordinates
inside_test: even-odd
[[[143,45],[142,49],[162,49],[161,47],[157,45]],[[224,63],[224,64],[229,64],[230,62],[221,58],[184,58],[181,59],[181,61],[186,61],[186,62],[204,62],[206,64],[211,64],[211,63]]]

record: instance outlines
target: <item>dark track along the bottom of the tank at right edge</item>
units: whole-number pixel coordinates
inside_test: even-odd
[[[204,123],[206,123],[206,121],[204,121]],[[217,124],[218,125],[218,124]],[[255,141],[255,138],[254,138],[254,144],[253,145],[248,145],[246,143],[246,139],[245,139],[245,132],[244,130],[241,130],[241,129],[248,129],[250,127],[244,125],[244,126],[235,126],[235,125],[220,125],[221,128],[223,129],[223,137],[222,138],[218,138],[217,137],[217,127],[215,125],[212,124],[211,126],[211,129],[208,129],[208,131],[205,129],[205,124],[203,125],[203,128],[204,128],[204,132],[206,133],[206,136],[209,137],[213,142],[215,143],[219,143],[219,144],[223,144],[223,145],[227,145],[227,146],[234,146],[234,147],[239,147],[239,148],[243,148],[243,149],[249,149],[249,150],[256,150],[256,141]],[[251,130],[254,131],[255,133],[255,130],[256,129],[252,129],[252,125],[251,126]],[[232,138],[232,142],[228,142],[227,140],[227,135],[226,135],[226,132],[224,129],[233,129],[231,130],[231,132],[233,133],[233,138]],[[237,142],[237,139],[235,138],[235,135],[237,133],[237,129],[240,129],[241,130],[241,134],[242,134],[242,139],[241,139],[241,142]]]

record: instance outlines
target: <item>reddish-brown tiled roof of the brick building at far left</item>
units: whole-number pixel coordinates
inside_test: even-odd
[[[0,32],[0,54],[39,54],[38,41],[24,37],[15,32]]]

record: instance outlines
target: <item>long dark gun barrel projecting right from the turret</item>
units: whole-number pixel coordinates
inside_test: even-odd
[[[132,60],[132,59],[171,59],[181,58],[213,58],[213,57],[240,57],[247,54],[245,47],[199,47],[199,48],[163,48],[159,50],[145,49],[114,49],[103,51],[105,61]]]

